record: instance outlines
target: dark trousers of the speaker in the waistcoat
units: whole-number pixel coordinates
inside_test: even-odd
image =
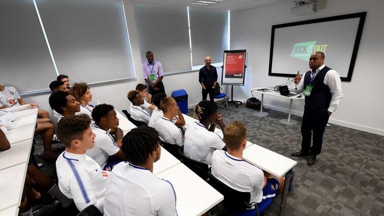
[[[301,151],[303,153],[310,153],[310,155],[317,155],[321,152],[322,135],[324,134],[326,123],[328,122],[329,115],[327,110],[313,111],[304,108],[301,122]],[[312,138],[313,143],[310,146]]]

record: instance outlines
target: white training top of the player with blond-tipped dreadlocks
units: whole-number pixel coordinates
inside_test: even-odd
[[[184,134],[185,156],[210,166],[215,149],[225,146],[222,138],[205,128],[200,122],[190,123]]]

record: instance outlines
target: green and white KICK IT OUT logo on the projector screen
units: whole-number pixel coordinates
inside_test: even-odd
[[[325,53],[325,49],[327,46],[328,44],[316,45],[316,40],[296,43],[292,48],[292,52],[290,53],[290,56],[304,60],[304,61],[308,61],[310,54],[312,54],[315,51],[320,51]]]

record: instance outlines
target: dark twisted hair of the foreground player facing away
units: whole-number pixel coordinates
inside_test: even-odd
[[[160,138],[158,132],[149,126],[139,126],[131,129],[122,138],[121,150],[127,161],[133,164],[143,164],[148,155],[156,150]]]

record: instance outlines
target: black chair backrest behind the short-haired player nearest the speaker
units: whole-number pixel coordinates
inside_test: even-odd
[[[224,196],[222,204],[233,210],[244,210],[249,204],[250,192],[240,192],[218,180],[210,173],[208,183]]]

